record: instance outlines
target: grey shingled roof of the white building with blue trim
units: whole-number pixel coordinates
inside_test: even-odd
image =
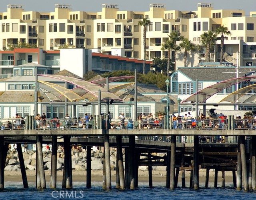
[[[244,77],[253,67],[239,68],[239,77]],[[196,81],[224,81],[236,78],[236,67],[180,67],[178,71]]]

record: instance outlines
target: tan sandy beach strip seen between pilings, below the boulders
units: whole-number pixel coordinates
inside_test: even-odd
[[[103,171],[93,171],[92,170],[92,182],[102,182]],[[26,175],[28,182],[36,181],[36,171],[35,170],[26,170]],[[57,171],[57,181],[62,181],[63,171]],[[50,181],[50,170],[45,170],[46,182]],[[72,171],[73,181],[86,181],[86,171]],[[112,181],[116,180],[116,171],[111,171]],[[186,182],[190,180],[190,172],[185,172]],[[206,170],[199,171],[199,181],[205,182]],[[222,173],[218,172],[218,182],[222,180]],[[163,170],[153,170],[152,179],[154,182],[166,182],[166,171]],[[4,180],[5,181],[14,181],[21,182],[22,176],[20,171],[4,171]],[[148,170],[138,172],[138,181],[139,182],[148,182]],[[181,173],[179,175],[179,182],[181,181]],[[214,182],[214,171],[210,171],[209,182]],[[233,182],[232,172],[225,172],[225,182]]]

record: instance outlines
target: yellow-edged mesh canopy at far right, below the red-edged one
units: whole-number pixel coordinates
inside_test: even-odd
[[[222,99],[220,102],[228,101],[231,103],[236,103],[236,101],[238,99],[240,99],[241,97],[244,97],[248,92],[252,91],[255,88],[256,88],[256,84],[248,85],[248,86],[243,87],[237,91],[234,91],[233,93],[231,93],[230,95],[228,95],[224,99]],[[256,101],[256,95],[250,95],[250,96],[246,97],[245,101],[243,101],[241,103],[244,103],[244,102],[255,103],[255,101]]]

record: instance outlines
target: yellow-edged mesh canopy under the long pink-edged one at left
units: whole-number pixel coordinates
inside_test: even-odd
[[[69,100],[69,101],[81,101],[81,100],[85,100],[82,97],[80,97],[78,94],[70,91],[69,89],[62,87],[60,85],[54,84],[54,83],[49,83],[46,81],[38,81],[40,83],[43,83],[45,85],[48,85],[49,87],[55,89],[56,91],[58,91],[61,96],[58,98],[61,101],[65,101],[65,97]]]

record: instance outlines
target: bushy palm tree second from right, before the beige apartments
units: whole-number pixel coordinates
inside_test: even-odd
[[[206,62],[210,62],[210,50],[214,47],[216,40],[217,40],[217,34],[212,31],[204,32],[203,34],[201,34],[200,43],[201,43],[201,46],[206,48],[206,53],[205,53]]]

